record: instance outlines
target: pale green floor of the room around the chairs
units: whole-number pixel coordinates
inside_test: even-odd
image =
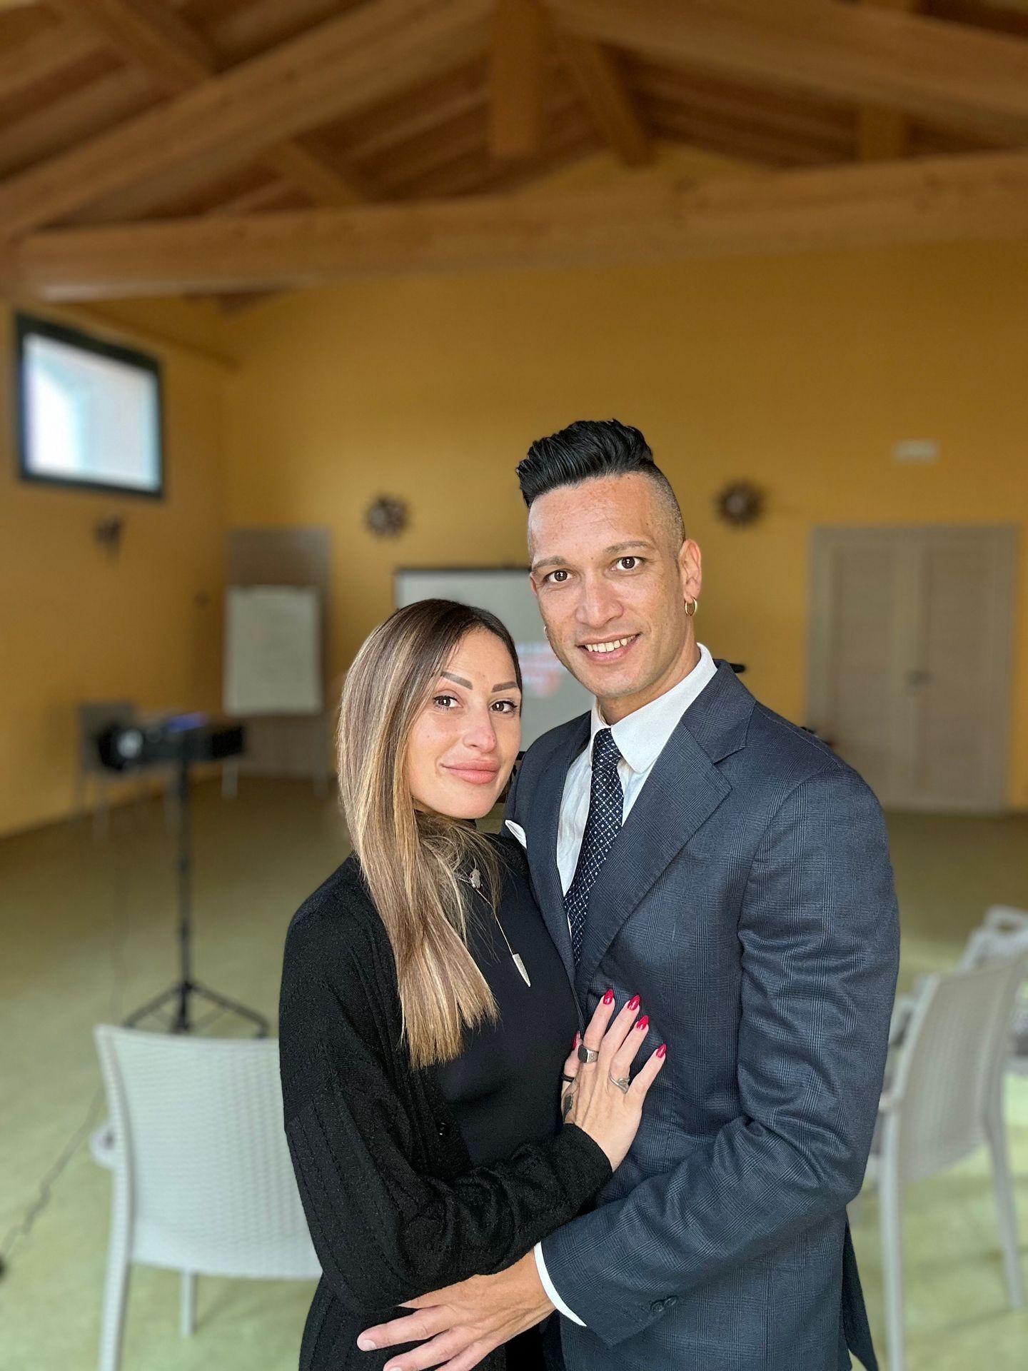
[[[237,801],[207,784],[195,808],[197,976],[274,1017],[289,916],[345,853],[334,801],[302,781],[244,779]],[[890,829],[903,986],[953,965],[987,903],[1028,908],[1028,816],[905,814]],[[173,976],[171,851],[156,802],[119,810],[108,840],[70,824],[0,840],[0,1241],[96,1100],[92,1026]],[[1012,1082],[1009,1119],[1028,1254],[1027,1079]],[[1,1371],[95,1364],[108,1191],[81,1145],[0,1281]],[[984,1157],[910,1187],[905,1204],[910,1371],[1024,1371],[1028,1312],[1005,1304]],[[854,1237],[880,1342],[873,1198]],[[291,1371],[310,1293],[201,1279],[197,1331],[182,1339],[177,1276],[136,1268],[123,1368]]]

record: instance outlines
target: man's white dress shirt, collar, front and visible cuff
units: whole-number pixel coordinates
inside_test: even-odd
[[[688,676],[683,677],[677,686],[672,686],[663,695],[643,705],[641,709],[626,714],[617,724],[611,725],[614,742],[618,744],[621,761],[618,762],[618,776],[621,790],[625,797],[621,812],[621,821],[628,818],[632,805],[639,799],[639,792],[654,769],[654,762],[663,751],[669,738],[674,732],[674,725],[696,699],[703,687],[717,675],[714,658],[707,648],[699,643],[699,661]],[[561,799],[561,818],[556,829],[556,865],[561,872],[561,890],[567,894],[567,887],[574,879],[574,868],[578,864],[583,835],[585,834],[585,820],[589,817],[589,787],[592,783],[592,740],[600,728],[607,724],[593,701],[592,718],[589,727],[589,744],[567,768],[567,777],[563,783],[563,797]],[[514,825],[511,825],[513,828]],[[524,838],[521,839],[524,842]],[[556,1287],[550,1279],[543,1260],[543,1245],[535,1246],[536,1267],[543,1289],[554,1307],[573,1323],[585,1322],[569,1309]]]

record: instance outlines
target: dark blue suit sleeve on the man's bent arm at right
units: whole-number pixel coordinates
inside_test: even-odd
[[[881,810],[855,772],[820,772],[785,797],[754,856],[739,939],[740,1116],[543,1241],[554,1285],[609,1345],[861,1187],[899,934]]]

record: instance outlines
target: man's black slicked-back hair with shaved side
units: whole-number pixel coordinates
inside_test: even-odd
[[[580,485],[602,476],[639,473],[659,487],[661,503],[673,537],[681,543],[685,526],[672,484],[654,462],[654,454],[639,429],[618,420],[577,420],[559,433],[540,437],[518,462],[518,485],[525,505],[559,485]]]

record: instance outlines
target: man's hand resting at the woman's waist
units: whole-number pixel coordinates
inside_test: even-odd
[[[387,1361],[385,1371],[426,1371],[428,1367],[470,1371],[493,1348],[532,1328],[554,1309],[530,1252],[495,1276],[472,1276],[407,1300],[404,1308],[417,1313],[366,1328],[356,1339],[363,1352],[395,1348],[400,1342],[422,1344]]]

